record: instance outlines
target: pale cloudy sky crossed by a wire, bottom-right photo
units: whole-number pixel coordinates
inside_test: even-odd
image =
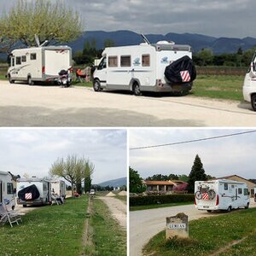
[[[253,130],[253,129],[251,129]],[[250,131],[251,131],[250,130]],[[130,148],[177,143],[248,130],[230,129],[131,129]],[[141,177],[154,174],[189,175],[199,154],[207,174],[215,177],[239,175],[256,178],[256,132],[198,143],[130,150],[130,166]]]

